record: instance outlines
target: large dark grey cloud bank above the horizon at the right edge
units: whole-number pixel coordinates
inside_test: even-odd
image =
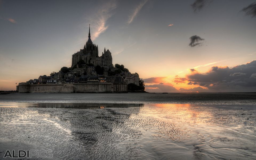
[[[212,67],[207,73],[187,75],[190,84],[197,82],[210,92],[255,92],[256,61],[235,67]]]

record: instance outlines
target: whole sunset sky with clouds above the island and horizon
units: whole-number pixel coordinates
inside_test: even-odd
[[[256,91],[255,0],[0,0],[0,90],[70,67],[89,24],[148,92]]]

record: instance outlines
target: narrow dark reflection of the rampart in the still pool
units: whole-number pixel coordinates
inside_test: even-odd
[[[32,103],[29,107],[39,108],[76,108],[76,109],[97,109],[97,108],[128,108],[141,107],[143,104],[126,103]]]

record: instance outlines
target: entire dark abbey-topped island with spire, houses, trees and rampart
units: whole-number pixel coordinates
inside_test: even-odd
[[[144,89],[138,73],[130,73],[124,65],[112,64],[108,49],[104,48],[99,56],[98,45],[91,40],[90,25],[88,40],[83,49],[72,55],[71,67],[62,67],[50,76],[40,75],[17,86],[19,93],[126,93]]]

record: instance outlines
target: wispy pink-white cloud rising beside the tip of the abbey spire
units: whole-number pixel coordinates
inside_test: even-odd
[[[107,20],[113,15],[112,11],[117,7],[116,1],[109,1],[100,7],[96,13],[88,15],[86,26],[91,24],[91,39],[94,40],[108,28]]]

